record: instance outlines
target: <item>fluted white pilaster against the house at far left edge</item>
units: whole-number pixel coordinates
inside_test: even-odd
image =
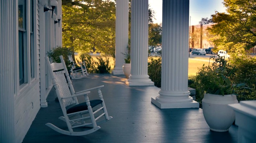
[[[0,142],[15,142],[14,123],[14,49],[18,1],[0,1]],[[16,11],[15,11],[16,10]],[[18,67],[19,69],[19,67]],[[17,77],[17,76],[16,76]],[[16,80],[17,81],[17,80]]]

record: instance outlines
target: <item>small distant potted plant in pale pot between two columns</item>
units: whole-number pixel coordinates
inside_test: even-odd
[[[122,53],[124,54],[124,64],[123,64],[123,71],[126,78],[129,78],[131,74],[131,47],[127,45],[126,47],[127,52]]]

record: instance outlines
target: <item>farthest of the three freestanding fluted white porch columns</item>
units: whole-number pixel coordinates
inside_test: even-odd
[[[113,75],[124,75],[124,54],[128,45],[129,1],[116,0],[116,62]]]

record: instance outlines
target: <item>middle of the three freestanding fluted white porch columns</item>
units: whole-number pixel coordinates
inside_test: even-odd
[[[154,86],[148,76],[148,0],[132,0],[129,86]]]

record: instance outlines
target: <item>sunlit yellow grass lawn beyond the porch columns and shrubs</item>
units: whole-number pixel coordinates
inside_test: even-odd
[[[92,55],[93,60],[98,61],[96,57],[100,57],[100,55]],[[114,69],[114,60],[112,57],[109,58],[109,63],[111,66],[111,70]],[[76,61],[81,61],[79,59],[79,55],[75,55]],[[149,58],[150,59],[150,58]],[[105,57],[103,57],[103,60],[105,60]],[[202,67],[203,64],[208,65],[209,64],[209,58],[208,57],[196,57],[196,58],[189,58],[188,59],[188,78],[192,78],[196,76],[196,72],[198,71],[198,68]]]

